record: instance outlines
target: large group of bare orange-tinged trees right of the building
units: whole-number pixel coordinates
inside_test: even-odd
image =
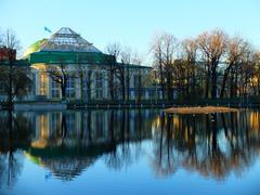
[[[164,100],[259,95],[260,53],[240,36],[213,29],[180,41],[165,32],[151,52]]]

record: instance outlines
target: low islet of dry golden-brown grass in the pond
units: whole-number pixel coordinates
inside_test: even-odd
[[[209,113],[230,113],[237,112],[236,108],[220,107],[220,106],[196,106],[196,107],[171,107],[165,109],[166,113],[176,114],[209,114]]]

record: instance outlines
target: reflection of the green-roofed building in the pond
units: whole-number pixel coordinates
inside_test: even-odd
[[[131,161],[131,143],[152,139],[158,110],[89,110],[34,114],[36,131],[26,156],[62,180],[73,180],[102,155],[109,168]]]

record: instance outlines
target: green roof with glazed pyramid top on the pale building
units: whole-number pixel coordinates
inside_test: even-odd
[[[116,65],[123,68],[151,68],[134,64],[116,63],[115,56],[104,54],[92,43],[68,27],[63,27],[49,39],[32,43],[24,54],[30,64]]]

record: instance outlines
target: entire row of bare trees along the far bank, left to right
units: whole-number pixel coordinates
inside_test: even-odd
[[[21,50],[20,40],[11,29],[1,31],[0,46]],[[118,94],[120,100],[130,100],[130,78],[133,75],[128,65],[141,65],[138,52],[114,42],[106,46],[105,53],[113,56],[107,58],[108,65],[102,67],[107,73],[107,77],[103,76],[102,79],[107,80],[110,100],[118,100]],[[150,53],[154,68],[152,77],[144,78],[140,69],[135,74],[138,100],[142,99],[142,90],[147,82],[158,89],[157,96],[169,101],[174,98],[191,100],[259,95],[260,52],[240,36],[229,36],[221,29],[213,29],[195,38],[178,40],[173,35],[164,32],[153,38]],[[16,67],[14,64],[10,56],[9,66],[0,67],[10,104],[16,96],[27,94],[31,87],[29,68]],[[57,83],[62,99],[67,96],[68,79],[78,78],[81,100],[90,100],[95,90],[91,88],[93,68],[91,65],[84,67],[79,58],[73,74],[62,61],[57,66],[49,66],[46,74]]]

